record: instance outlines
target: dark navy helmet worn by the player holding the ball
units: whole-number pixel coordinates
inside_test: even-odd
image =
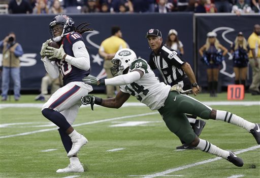
[[[54,36],[53,30],[55,28],[60,28],[60,27],[63,28],[61,35]],[[58,42],[61,40],[61,37],[63,37],[64,35],[67,35],[70,32],[73,32],[74,28],[75,28],[75,23],[71,17],[69,17],[67,15],[57,15],[54,17],[54,19],[52,20],[52,22],[49,25],[49,32],[50,32],[52,40],[55,42]]]

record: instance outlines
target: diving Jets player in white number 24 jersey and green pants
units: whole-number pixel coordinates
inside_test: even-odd
[[[109,79],[85,77],[83,81],[92,85],[120,85],[120,92],[115,98],[102,99],[91,95],[81,98],[82,104],[98,104],[108,108],[120,108],[131,96],[146,104],[151,110],[158,110],[167,127],[185,143],[198,149],[220,156],[236,166],[243,166],[243,160],[233,152],[222,150],[210,142],[199,139],[191,129],[184,113],[193,114],[203,119],[214,119],[238,125],[251,132],[257,144],[260,144],[260,124],[251,123],[227,111],[214,110],[189,96],[182,95],[178,85],[170,86],[157,80],[147,62],[136,59],[130,49],[119,50],[112,60],[111,68],[115,76]]]

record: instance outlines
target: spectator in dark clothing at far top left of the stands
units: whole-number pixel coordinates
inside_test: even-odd
[[[9,14],[31,14],[32,8],[27,0],[11,0],[8,11]]]

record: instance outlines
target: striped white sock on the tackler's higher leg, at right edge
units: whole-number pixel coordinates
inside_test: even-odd
[[[225,122],[229,122],[233,125],[240,126],[244,129],[246,129],[247,131],[250,131],[255,126],[254,123],[248,122],[247,120],[243,119],[242,117],[239,117],[239,116],[232,114],[230,112],[227,112],[227,111],[217,110],[216,120],[222,120]]]

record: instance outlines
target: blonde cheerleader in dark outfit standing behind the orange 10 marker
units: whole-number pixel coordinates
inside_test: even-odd
[[[231,45],[233,56],[233,69],[235,72],[235,84],[243,84],[246,88],[246,74],[249,46],[242,32],[239,32],[234,43]]]

